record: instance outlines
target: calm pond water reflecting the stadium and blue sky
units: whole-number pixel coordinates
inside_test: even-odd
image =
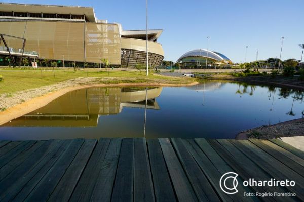
[[[301,118],[303,95],[218,81],[147,90],[88,88],[1,126],[0,139],[235,138],[243,130]]]

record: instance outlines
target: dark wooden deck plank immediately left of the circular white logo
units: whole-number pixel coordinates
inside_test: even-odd
[[[199,201],[220,201],[211,184],[180,138],[171,140],[184,171],[192,184]]]

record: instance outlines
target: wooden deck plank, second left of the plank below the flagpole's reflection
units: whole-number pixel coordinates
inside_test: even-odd
[[[91,201],[110,201],[117,171],[122,138],[111,139],[109,148],[101,165],[102,170],[96,176],[97,181],[90,198]]]

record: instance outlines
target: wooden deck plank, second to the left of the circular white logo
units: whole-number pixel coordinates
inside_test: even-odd
[[[169,139],[159,139],[166,165],[179,201],[198,201]]]

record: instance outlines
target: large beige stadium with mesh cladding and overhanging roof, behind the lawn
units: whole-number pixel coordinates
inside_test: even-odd
[[[39,59],[110,64],[134,68],[146,64],[146,31],[123,30],[119,23],[98,20],[92,7],[0,3],[0,34],[18,60],[22,40],[25,53]],[[164,58],[157,43],[163,30],[148,30],[148,63],[158,66]],[[6,48],[0,43],[0,55]],[[3,56],[2,56],[3,57]]]

